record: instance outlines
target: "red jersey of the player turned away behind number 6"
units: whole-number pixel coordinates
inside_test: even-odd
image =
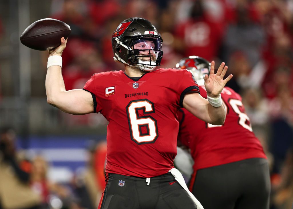
[[[205,87],[199,88],[202,97],[207,98]],[[208,124],[184,108],[178,112],[178,140],[190,148],[195,172],[254,157],[266,158],[260,141],[252,132],[241,96],[228,87],[223,89],[221,96],[227,113],[221,126]]]

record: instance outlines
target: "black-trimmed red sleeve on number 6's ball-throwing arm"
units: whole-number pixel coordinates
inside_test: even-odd
[[[98,92],[96,90],[96,75],[93,74],[93,76],[86,82],[84,85],[83,90],[88,91],[91,93],[93,97],[93,112],[101,112],[102,111],[102,104],[98,98]]]

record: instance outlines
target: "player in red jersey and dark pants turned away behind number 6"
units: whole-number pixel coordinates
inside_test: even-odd
[[[207,97],[207,60],[189,56],[176,67],[190,70],[202,97]],[[190,149],[194,160],[189,189],[205,209],[267,209],[270,176],[263,148],[252,132],[241,96],[227,87],[221,95],[227,112],[223,125],[204,122],[184,108],[178,112],[178,141]]]

